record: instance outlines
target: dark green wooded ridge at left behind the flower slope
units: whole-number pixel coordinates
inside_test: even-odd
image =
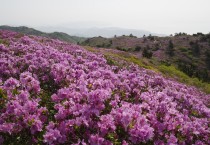
[[[25,26],[10,27],[10,26],[4,25],[4,26],[0,26],[0,29],[11,30],[11,31],[15,31],[15,32],[19,32],[19,33],[23,33],[27,35],[36,35],[36,36],[43,36],[43,37],[52,38],[52,39],[59,39],[59,40],[70,42],[70,43],[81,43],[84,40],[86,40],[86,38],[84,37],[70,36],[63,32],[45,33],[45,32],[41,32],[36,29],[28,28]]]

